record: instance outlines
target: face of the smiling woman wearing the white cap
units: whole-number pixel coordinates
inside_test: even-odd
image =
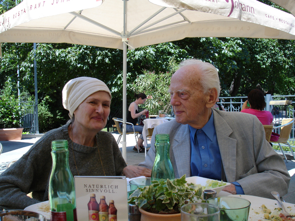
[[[97,91],[86,98],[74,111],[75,125],[86,130],[102,130],[110,114],[111,98],[105,91]]]

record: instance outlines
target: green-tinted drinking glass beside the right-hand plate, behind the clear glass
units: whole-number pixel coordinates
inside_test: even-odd
[[[220,208],[220,221],[247,221],[251,203],[247,199],[220,196],[207,199]]]

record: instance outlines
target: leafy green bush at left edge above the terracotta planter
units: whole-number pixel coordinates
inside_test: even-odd
[[[0,96],[0,128],[19,128],[21,110],[14,96]]]

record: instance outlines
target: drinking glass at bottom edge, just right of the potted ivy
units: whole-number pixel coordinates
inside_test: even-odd
[[[181,207],[181,221],[219,221],[219,207],[209,203],[188,203]]]

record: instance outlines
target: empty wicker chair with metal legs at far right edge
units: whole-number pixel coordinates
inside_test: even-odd
[[[280,128],[280,138],[278,139],[278,141],[271,141],[271,143],[278,143],[281,150],[282,150],[282,153],[286,159],[286,162],[288,162],[287,160],[287,157],[282,149],[282,146],[281,146],[281,143],[287,143],[292,154],[293,154],[293,157],[295,159],[295,155],[294,155],[294,152],[292,150],[292,147],[290,145],[290,143],[288,142],[288,139],[290,138],[290,133],[291,133],[291,130],[292,130],[292,127],[293,127],[293,124],[294,124],[294,118],[286,118],[286,119],[282,119],[282,120],[276,120],[274,121],[274,123],[278,122],[278,121],[282,121],[282,124],[281,126],[277,126],[277,127],[274,127],[273,129],[278,129]]]

